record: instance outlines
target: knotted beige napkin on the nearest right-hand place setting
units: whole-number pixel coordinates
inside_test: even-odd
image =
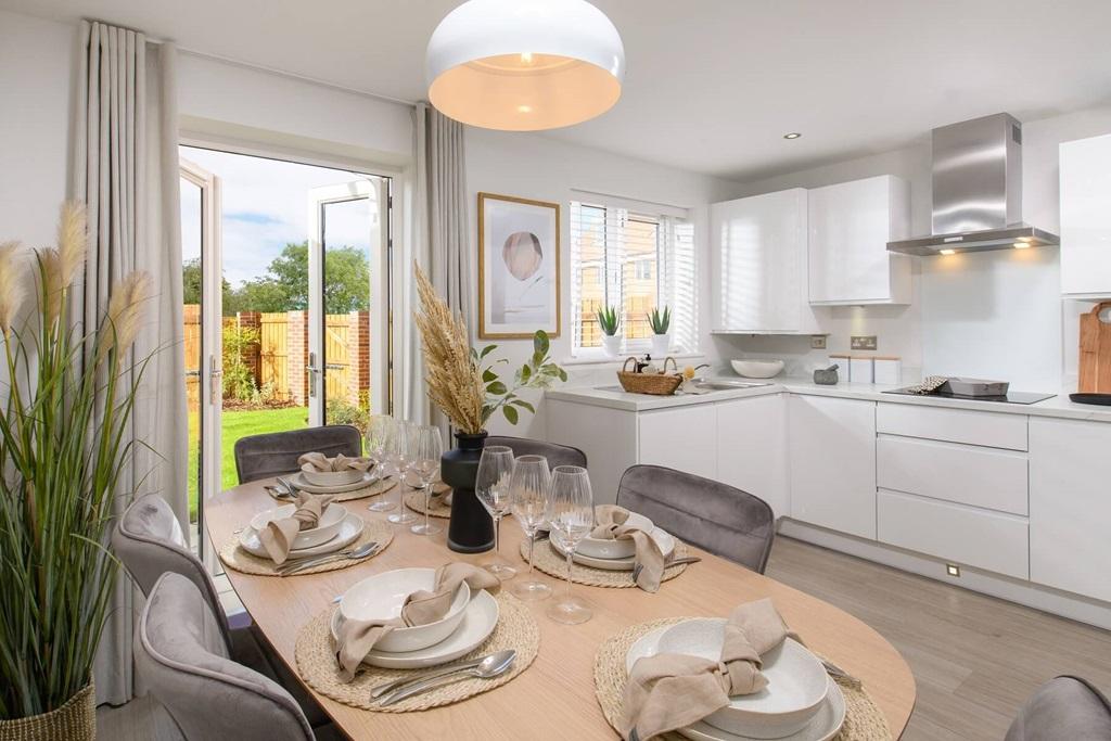
[[[799,640],[770,599],[741,604],[725,623],[721,659],[680,653],[640,659],[625,683],[619,721],[624,739],[649,739],[685,728],[768,685],[760,657],[788,637]]]

